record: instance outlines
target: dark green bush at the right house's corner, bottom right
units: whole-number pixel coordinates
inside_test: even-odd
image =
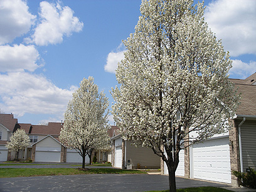
[[[242,181],[242,186],[256,189],[256,170],[249,168],[247,173],[240,173],[239,171],[232,171],[238,179]]]

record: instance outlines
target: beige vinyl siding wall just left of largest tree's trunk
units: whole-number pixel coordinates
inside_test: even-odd
[[[152,149],[147,147],[135,147],[131,141],[126,141],[126,163],[131,164],[132,169],[137,169],[139,163],[141,168],[144,169],[159,169],[160,157],[154,154]],[[130,163],[128,161],[130,160]]]

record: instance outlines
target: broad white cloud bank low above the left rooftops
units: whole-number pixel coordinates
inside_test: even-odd
[[[19,117],[25,113],[61,116],[75,89],[58,88],[42,75],[0,74],[0,108]]]

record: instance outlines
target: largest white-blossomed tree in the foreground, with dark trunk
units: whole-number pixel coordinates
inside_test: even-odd
[[[142,0],[135,32],[123,41],[120,88],[112,88],[120,131],[163,159],[170,191],[179,151],[227,130],[238,105],[227,75],[232,61],[208,29],[204,9],[193,0]]]

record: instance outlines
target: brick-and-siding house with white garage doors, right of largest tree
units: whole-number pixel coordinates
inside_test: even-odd
[[[256,73],[245,80],[230,79],[242,94],[236,117],[227,134],[193,144],[180,152],[178,175],[238,186],[232,170],[256,169]],[[168,174],[162,163],[162,174]]]

